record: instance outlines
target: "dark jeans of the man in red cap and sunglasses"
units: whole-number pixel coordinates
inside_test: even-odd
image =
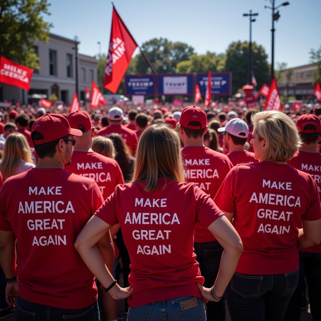
[[[61,309],[33,303],[18,297],[14,321],[100,321],[97,301],[81,309]]]

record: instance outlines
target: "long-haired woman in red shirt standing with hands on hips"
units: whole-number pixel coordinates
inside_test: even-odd
[[[148,157],[146,155],[148,154]],[[144,130],[132,182],[118,185],[79,234],[75,247],[115,299],[128,297],[127,320],[206,320],[203,298],[218,301],[234,273],[242,243],[213,200],[184,183],[178,134],[164,124]],[[96,247],[120,223],[131,260],[130,286],[121,288]],[[212,288],[204,288],[193,252],[196,222],[224,247]]]

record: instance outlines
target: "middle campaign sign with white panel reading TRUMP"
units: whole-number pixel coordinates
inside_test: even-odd
[[[192,74],[162,74],[157,77],[160,95],[193,95]]]

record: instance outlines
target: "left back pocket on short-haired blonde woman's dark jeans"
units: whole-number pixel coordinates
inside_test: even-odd
[[[235,272],[231,278],[231,289],[243,298],[259,295],[263,276]]]

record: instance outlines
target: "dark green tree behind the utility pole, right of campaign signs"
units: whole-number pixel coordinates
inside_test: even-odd
[[[265,49],[252,43],[252,65],[257,86],[269,83],[269,64]],[[226,50],[225,72],[232,72],[232,92],[247,82],[248,42],[232,42]]]

